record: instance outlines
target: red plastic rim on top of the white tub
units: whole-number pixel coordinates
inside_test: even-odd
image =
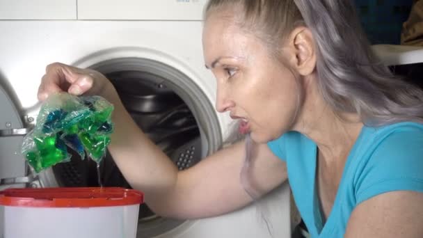
[[[0,191],[0,205],[13,207],[114,207],[140,203],[143,203],[143,193],[115,187]]]

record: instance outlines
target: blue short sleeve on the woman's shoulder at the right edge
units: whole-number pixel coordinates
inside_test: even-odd
[[[423,192],[423,130],[407,127],[383,138],[358,177],[357,204],[389,191]]]

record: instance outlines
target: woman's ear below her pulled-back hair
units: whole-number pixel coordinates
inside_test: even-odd
[[[298,74],[307,76],[314,72],[316,51],[310,29],[304,26],[294,29],[285,42],[285,47],[289,53],[289,63]]]

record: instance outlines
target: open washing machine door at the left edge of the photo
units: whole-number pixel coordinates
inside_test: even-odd
[[[26,177],[26,163],[20,146],[28,129],[24,128],[17,106],[0,86],[0,190],[25,187],[31,182]],[[3,207],[0,207],[0,237],[3,237]]]

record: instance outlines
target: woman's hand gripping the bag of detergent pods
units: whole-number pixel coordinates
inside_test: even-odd
[[[107,95],[113,90],[111,82],[95,70],[75,68],[63,63],[47,65],[38,88],[38,100],[44,101],[52,93],[67,92],[72,95]]]

